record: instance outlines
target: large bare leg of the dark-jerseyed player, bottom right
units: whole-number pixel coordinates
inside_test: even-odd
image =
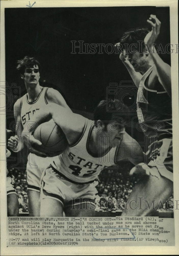
[[[128,198],[129,201],[126,207],[128,210],[123,210],[122,216],[152,216],[160,202],[165,205],[172,194],[173,182],[160,174],[158,175],[159,177],[151,174],[144,175],[139,180]],[[154,200],[154,207],[152,200]],[[147,206],[146,201],[149,205],[152,204],[151,208]],[[136,209],[134,210],[134,208]]]

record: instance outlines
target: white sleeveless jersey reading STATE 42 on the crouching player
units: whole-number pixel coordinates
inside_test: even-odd
[[[115,165],[114,158],[117,146],[100,158],[93,157],[88,152],[88,143],[94,121],[86,119],[83,134],[79,141],[68,146],[63,153],[51,163],[53,170],[72,183],[91,183],[102,169]]]

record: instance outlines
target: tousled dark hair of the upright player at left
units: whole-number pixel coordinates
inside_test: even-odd
[[[40,73],[40,63],[34,57],[31,58],[31,57],[25,56],[23,59],[18,60],[17,64],[18,65],[16,69],[19,71],[20,74],[24,74],[26,68],[33,68],[34,65],[38,66],[39,73]]]

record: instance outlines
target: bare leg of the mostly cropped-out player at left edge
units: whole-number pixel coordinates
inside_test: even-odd
[[[19,201],[16,194],[7,195],[7,216],[19,216]]]

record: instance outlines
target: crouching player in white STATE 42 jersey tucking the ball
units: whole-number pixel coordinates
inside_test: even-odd
[[[34,115],[38,124],[52,118],[69,144],[42,174],[40,216],[63,216],[63,211],[66,216],[94,216],[95,179],[101,170],[111,165],[117,170],[124,159],[134,165],[143,159],[141,147],[125,132],[127,116],[119,111],[113,117],[116,106],[117,100],[101,101],[94,111],[95,121],[54,103]]]

